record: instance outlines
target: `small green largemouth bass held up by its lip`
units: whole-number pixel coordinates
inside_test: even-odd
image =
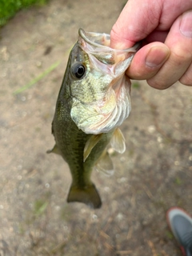
[[[78,30],[56,102],[55,145],[47,151],[61,155],[70,168],[67,202],[102,206],[91,174],[94,169],[113,173],[109,146],[118,153],[126,150],[118,127],[130,114],[130,79],[125,71],[137,50],[138,44],[112,49],[110,34]]]

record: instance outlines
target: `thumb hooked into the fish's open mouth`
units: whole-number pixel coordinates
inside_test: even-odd
[[[110,47],[125,49],[146,38],[158,26],[161,12],[156,1],[129,0],[110,32]]]

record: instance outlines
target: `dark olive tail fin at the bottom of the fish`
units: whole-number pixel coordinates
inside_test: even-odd
[[[67,202],[84,202],[91,208],[100,208],[102,206],[101,198],[94,184],[86,186],[86,188],[78,188],[77,186],[70,187]]]

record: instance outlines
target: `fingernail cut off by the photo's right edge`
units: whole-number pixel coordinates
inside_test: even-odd
[[[182,21],[180,23],[180,31],[187,38],[192,38],[192,11],[182,14]]]

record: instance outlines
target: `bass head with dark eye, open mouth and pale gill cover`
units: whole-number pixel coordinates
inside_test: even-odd
[[[110,48],[110,35],[79,30],[70,53],[70,116],[86,134],[120,126],[130,114],[130,79],[125,71],[138,45]]]

